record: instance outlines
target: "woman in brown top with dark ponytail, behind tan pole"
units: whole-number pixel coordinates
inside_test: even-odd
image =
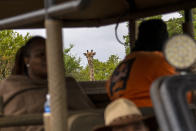
[[[16,54],[12,74],[0,83],[0,96],[4,100],[5,115],[43,113],[47,89],[45,39],[40,36],[30,38]],[[75,79],[66,78],[68,109],[93,108]],[[77,94],[77,95],[73,95]],[[74,96],[74,97],[73,97]],[[6,128],[10,130],[41,130],[40,127]],[[2,129],[1,129],[2,130]]]

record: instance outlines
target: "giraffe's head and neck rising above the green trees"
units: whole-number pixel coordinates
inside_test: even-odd
[[[84,55],[86,56],[86,58],[88,60],[89,72],[90,72],[90,81],[95,81],[95,78],[94,78],[94,67],[93,67],[93,56],[95,54],[96,54],[96,52],[93,52],[93,50],[91,50],[91,52],[89,52],[87,50],[87,52],[84,53]]]

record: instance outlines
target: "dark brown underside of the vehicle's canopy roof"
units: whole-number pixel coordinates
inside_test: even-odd
[[[56,0],[56,5],[71,0]],[[78,0],[72,0],[77,2]],[[80,0],[79,0],[80,1]],[[84,4],[87,3],[87,4]],[[137,19],[157,14],[196,7],[195,0],[84,0],[79,8],[70,12],[55,15],[63,19],[64,27],[98,27],[117,22]],[[44,9],[44,0],[1,0],[0,20],[5,18]],[[1,23],[1,21],[0,21]],[[43,28],[42,19],[31,20],[28,24],[6,25],[8,28]]]

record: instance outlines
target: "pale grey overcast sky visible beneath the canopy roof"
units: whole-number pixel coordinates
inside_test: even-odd
[[[163,15],[162,19],[167,21],[172,17],[180,17],[178,13]],[[87,50],[96,52],[95,59],[107,61],[110,55],[117,55],[120,59],[125,57],[125,48],[118,43],[115,38],[115,25],[103,26],[99,28],[66,28],[63,29],[63,45],[68,48],[70,44],[74,47],[71,54],[81,58],[81,65],[87,64],[87,59],[83,55]],[[26,35],[41,35],[46,37],[45,29],[26,29],[15,30],[16,32]],[[118,36],[123,40],[123,35],[128,34],[127,22],[121,23],[118,27]]]

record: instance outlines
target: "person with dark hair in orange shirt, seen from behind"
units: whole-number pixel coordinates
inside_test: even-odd
[[[138,107],[152,106],[149,93],[152,82],[161,76],[176,73],[161,52],[167,39],[167,27],[162,20],[147,20],[140,24],[135,48],[107,81],[111,100],[124,97]]]

